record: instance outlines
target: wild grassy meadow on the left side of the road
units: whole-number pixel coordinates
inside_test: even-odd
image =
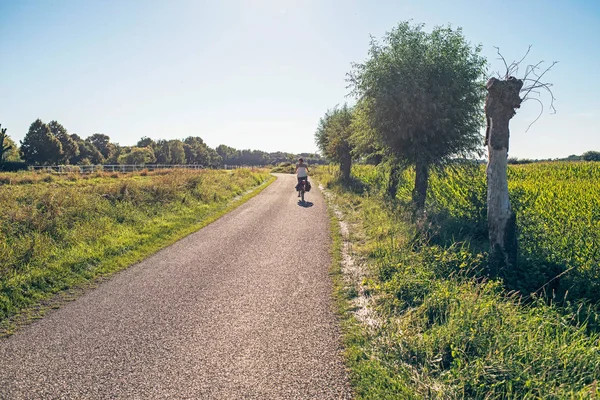
[[[19,173],[0,185],[0,336],[208,225],[275,180],[249,169],[44,176]]]

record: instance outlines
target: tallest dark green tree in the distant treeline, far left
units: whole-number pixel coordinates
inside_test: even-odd
[[[50,127],[40,119],[35,120],[21,142],[23,160],[29,164],[52,164],[62,157],[60,141],[52,135]]]

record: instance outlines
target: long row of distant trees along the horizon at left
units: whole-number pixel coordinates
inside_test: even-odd
[[[226,145],[213,149],[199,136],[183,140],[154,140],[142,137],[135,146],[111,142],[108,135],[95,133],[86,139],[57,121],[40,119],[29,127],[20,146],[6,134],[0,134],[0,164],[15,169],[27,165],[100,165],[100,164],[195,164],[209,168],[224,165],[276,165],[303,157],[309,164],[324,164],[318,154],[267,153],[261,150],[238,150]],[[5,168],[6,169],[6,168]]]

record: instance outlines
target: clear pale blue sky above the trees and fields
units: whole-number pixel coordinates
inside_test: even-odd
[[[510,155],[600,150],[600,1],[0,0],[0,123],[23,139],[36,118],[121,145],[201,136],[210,146],[312,152],[344,101],[351,62],[399,21],[451,23],[507,59],[559,64],[557,114],[526,103]]]

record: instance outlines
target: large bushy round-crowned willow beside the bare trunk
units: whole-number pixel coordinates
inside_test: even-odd
[[[400,23],[348,74],[373,143],[383,147],[391,177],[415,167],[413,201],[425,206],[429,172],[481,149],[486,61],[460,28]],[[364,138],[362,138],[364,141]],[[395,196],[395,185],[392,195]]]

